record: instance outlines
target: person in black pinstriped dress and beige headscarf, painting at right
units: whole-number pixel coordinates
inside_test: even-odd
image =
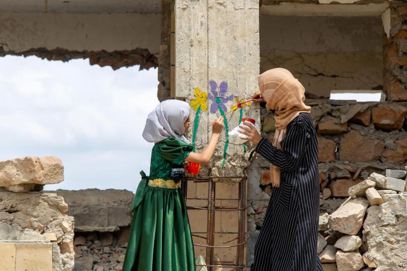
[[[268,110],[275,110],[273,143],[241,126],[272,166],[273,193],[254,250],[251,270],[323,270],[317,253],[319,220],[318,142],[304,88],[281,68],[259,76]],[[258,95],[260,93],[256,93]]]

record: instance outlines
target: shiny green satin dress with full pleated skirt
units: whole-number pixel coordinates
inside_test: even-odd
[[[150,177],[141,172],[143,178],[134,197],[123,271],[195,270],[191,230],[181,190],[148,185],[148,180],[170,180],[173,164],[182,165],[191,151],[191,145],[175,138],[154,145]]]

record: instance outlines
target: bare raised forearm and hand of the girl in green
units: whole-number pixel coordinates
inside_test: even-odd
[[[218,144],[219,137],[223,130],[223,118],[219,117],[215,124],[212,126],[212,135],[209,140],[208,146],[201,153],[190,153],[185,161],[198,163],[202,165],[208,165],[212,156],[215,153],[216,145]]]

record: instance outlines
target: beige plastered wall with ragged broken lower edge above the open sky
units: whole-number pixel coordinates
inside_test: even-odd
[[[0,13],[0,55],[90,64],[157,67],[160,15],[137,13]],[[145,31],[149,29],[149,31]]]

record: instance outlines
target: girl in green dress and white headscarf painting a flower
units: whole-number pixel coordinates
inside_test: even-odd
[[[208,164],[220,134],[223,120],[212,128],[208,146],[192,153],[185,138],[188,130],[189,105],[184,101],[161,102],[147,117],[143,138],[154,142],[150,176],[141,172],[132,206],[124,271],[192,271],[195,257],[185,202],[180,190],[183,163]]]

